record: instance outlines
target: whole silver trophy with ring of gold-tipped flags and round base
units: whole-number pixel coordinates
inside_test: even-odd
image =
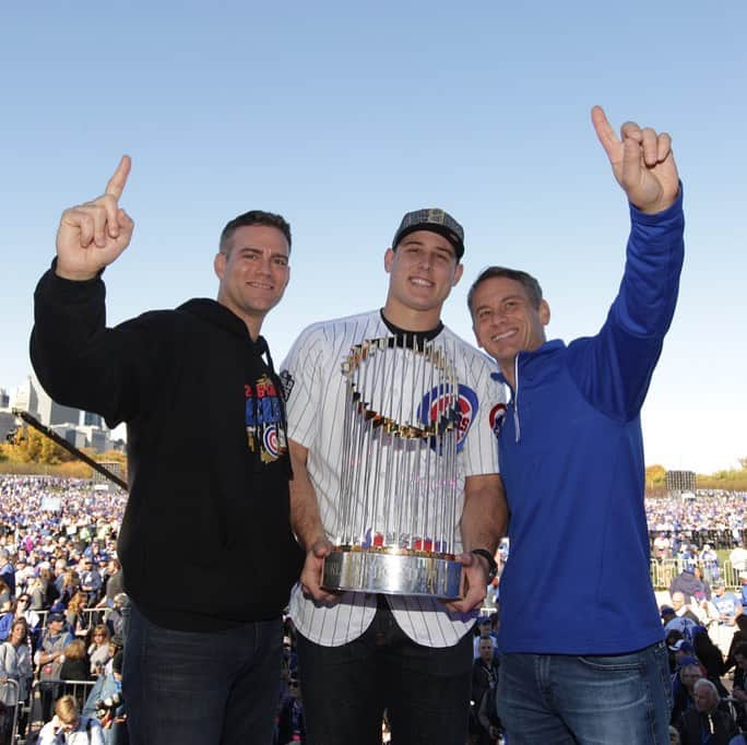
[[[453,354],[452,354],[453,357]],[[329,590],[455,599],[459,382],[447,348],[366,340],[343,363],[341,498]]]

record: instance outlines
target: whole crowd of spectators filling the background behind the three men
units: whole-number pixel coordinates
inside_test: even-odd
[[[19,702],[26,702],[22,731],[33,723],[46,724],[46,733],[75,726],[90,731],[95,721],[107,745],[124,742],[126,728],[118,724],[126,717],[119,681],[127,596],[116,539],[126,501],[120,489],[87,481],[0,476],[0,684],[17,682]],[[673,737],[676,731],[683,743],[696,742],[692,733],[707,726],[713,742],[721,742],[722,734],[747,724],[747,614],[735,610],[738,605],[742,611],[743,602],[747,607],[747,592],[724,591],[715,548],[742,551],[747,571],[747,551],[740,546],[747,537],[747,493],[650,498],[647,515],[652,557],[683,559],[683,572],[671,587],[672,606],[663,607],[676,699]],[[509,553],[503,542],[501,558]],[[490,708],[494,696],[486,695],[499,671],[497,624],[493,613],[475,627],[472,736],[486,745],[500,733]],[[724,649],[730,640],[731,648]],[[305,740],[289,618],[284,648],[278,745]],[[731,670],[733,690],[723,683]],[[76,681],[86,686],[73,687]],[[7,725],[13,705],[0,686],[0,737],[5,740],[9,730],[2,723]],[[383,737],[386,742],[386,722]]]

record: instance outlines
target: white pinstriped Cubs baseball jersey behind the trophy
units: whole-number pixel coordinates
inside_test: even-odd
[[[288,436],[308,450],[307,470],[317,493],[322,523],[333,542],[340,510],[346,407],[343,363],[354,345],[391,334],[378,310],[316,323],[301,332],[281,366],[287,395]],[[490,379],[497,369],[493,360],[446,327],[432,343],[444,348],[453,360],[460,398],[464,393],[469,401],[466,407],[462,406],[456,456],[459,522],[464,478],[498,473],[491,418],[503,407],[503,388]],[[461,552],[458,528],[452,545],[454,553]],[[400,595],[387,599],[405,634],[428,647],[455,645],[474,623],[475,614],[450,613],[435,599]],[[374,593],[346,592],[336,605],[325,607],[305,598],[296,584],[289,610],[306,638],[336,647],[358,638],[368,628],[376,606]]]

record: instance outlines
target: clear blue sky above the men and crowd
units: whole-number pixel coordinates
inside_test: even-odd
[[[549,335],[602,323],[625,198],[589,110],[667,130],[686,190],[680,300],[643,426],[649,464],[747,456],[747,4],[10,3],[0,26],[0,387],[29,372],[32,292],[63,208],[122,153],[132,245],[106,272],[111,323],[214,297],[230,217],[282,212],[292,280],[263,329],[278,362],[307,323],[383,303],[402,214],[466,230],[446,322],[471,338],[481,269],[538,276]],[[195,403],[199,394],[195,391]]]

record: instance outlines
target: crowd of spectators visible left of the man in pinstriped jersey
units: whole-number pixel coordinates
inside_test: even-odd
[[[128,599],[116,548],[126,502],[120,489],[87,481],[0,476],[0,745],[16,709],[19,732],[36,737],[40,729],[39,743],[74,742],[76,733],[81,742],[127,742]],[[304,738],[287,619],[276,742]]]

